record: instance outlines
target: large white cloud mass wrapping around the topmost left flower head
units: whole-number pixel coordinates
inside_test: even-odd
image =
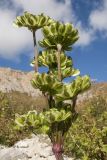
[[[69,21],[73,16],[70,4],[70,0],[65,0],[65,3],[55,0],[30,0],[30,3],[26,0],[4,0],[0,5],[0,56],[12,59],[26,50],[30,53],[33,51],[32,34],[25,28],[17,29],[12,25],[16,15],[27,10],[36,14],[43,12],[57,20]],[[41,34],[38,35],[40,38]]]

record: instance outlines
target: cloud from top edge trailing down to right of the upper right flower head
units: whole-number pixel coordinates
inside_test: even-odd
[[[56,20],[72,22],[75,25],[75,27],[79,30],[80,39],[76,43],[77,46],[87,46],[94,39],[94,36],[92,36],[92,30],[90,28],[85,29],[82,26],[81,22],[77,22],[77,17],[72,8],[72,0],[65,0],[64,3],[58,3],[55,0],[44,0],[42,2],[37,1],[36,3],[35,0],[31,0],[30,3],[28,3],[28,1],[26,0],[15,0],[15,2],[18,5],[22,6],[24,11],[27,10],[36,14],[44,12],[45,14],[51,16]]]

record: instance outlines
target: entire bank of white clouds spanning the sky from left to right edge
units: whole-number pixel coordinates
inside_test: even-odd
[[[18,12],[21,14],[20,10],[35,14],[43,12],[54,19],[73,22],[79,30],[78,46],[89,45],[96,37],[96,30],[107,31],[107,0],[104,0],[103,8],[95,9],[90,13],[89,24],[91,27],[89,26],[86,29],[81,21],[77,22],[76,13],[72,9],[72,0],[65,0],[65,3],[56,0],[30,0],[30,2],[27,0],[11,0],[11,2],[13,3],[13,9],[9,6],[10,3],[6,1],[4,1],[5,7],[0,6],[0,56],[7,59],[18,58],[26,51],[29,51],[30,54],[33,51],[32,34],[25,28],[17,29],[12,25],[16,14]],[[38,36],[40,38],[41,34],[38,33]]]

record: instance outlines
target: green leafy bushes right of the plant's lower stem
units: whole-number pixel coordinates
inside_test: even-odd
[[[107,103],[101,96],[89,101],[73,123],[65,151],[81,160],[107,159]]]

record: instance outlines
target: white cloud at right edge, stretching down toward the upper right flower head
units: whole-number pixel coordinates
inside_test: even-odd
[[[88,19],[88,27],[82,26],[81,21],[77,23],[80,39],[77,46],[87,46],[98,38],[97,31],[101,34],[102,38],[107,37],[107,0],[102,0],[102,4],[97,8],[90,11]]]

